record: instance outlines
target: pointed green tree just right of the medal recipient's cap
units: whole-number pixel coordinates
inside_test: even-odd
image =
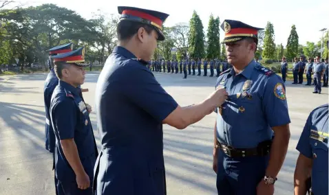
[[[262,52],[263,58],[275,58],[275,43],[274,43],[274,28],[273,24],[268,22],[265,29],[264,36],[264,50]]]

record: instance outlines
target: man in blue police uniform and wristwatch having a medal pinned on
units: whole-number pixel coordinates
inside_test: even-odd
[[[217,192],[273,194],[290,138],[285,85],[281,77],[253,60],[257,32],[262,29],[233,20],[225,20],[221,27],[233,68],[224,71],[215,86],[229,93],[229,99],[216,109]]]

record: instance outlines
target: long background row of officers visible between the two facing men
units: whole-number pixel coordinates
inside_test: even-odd
[[[183,78],[187,78],[187,75],[195,75],[198,71],[197,76],[201,76],[201,69],[203,67],[203,76],[208,75],[208,69],[210,69],[209,77],[220,76],[220,73],[230,69],[230,65],[227,60],[150,60],[147,67],[151,71],[164,72],[164,73],[184,73]],[[215,74],[216,71],[216,74]]]

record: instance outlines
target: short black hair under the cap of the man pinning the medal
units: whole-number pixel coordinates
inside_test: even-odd
[[[116,27],[116,34],[118,35],[118,41],[127,41],[129,38],[134,36],[138,32],[140,27],[144,27],[146,32],[150,34],[153,27],[136,21],[122,20]]]

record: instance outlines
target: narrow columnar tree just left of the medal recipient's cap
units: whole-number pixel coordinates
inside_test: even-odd
[[[206,49],[206,58],[220,58],[220,18],[213,18],[211,14],[208,24],[208,47]]]

